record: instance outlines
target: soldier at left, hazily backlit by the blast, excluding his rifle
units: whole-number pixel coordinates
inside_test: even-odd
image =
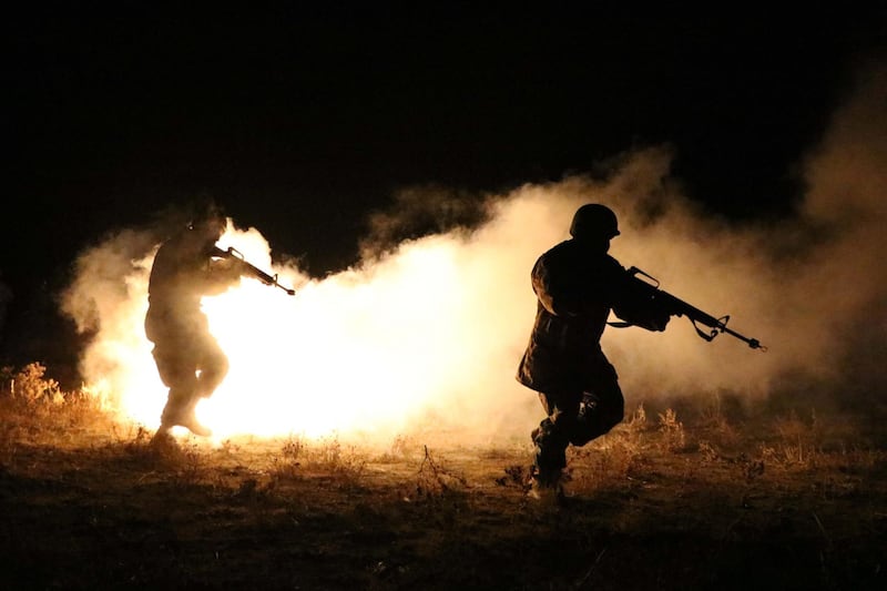
[[[194,408],[225,378],[228,360],[210,333],[201,298],[224,292],[243,272],[236,262],[212,256],[225,225],[225,217],[211,211],[164,242],[154,257],[145,334],[170,388],[159,435],[176,425],[204,437],[212,432],[197,421]]]

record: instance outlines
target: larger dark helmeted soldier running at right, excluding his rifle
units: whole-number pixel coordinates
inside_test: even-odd
[[[628,272],[606,254],[619,235],[609,207],[579,207],[570,234],[533,266],[536,323],[517,376],[539,393],[548,415],[532,432],[533,498],[560,496],[567,448],[588,444],[623,418],[616,371],[600,345],[610,310],[649,330],[664,330],[670,318],[633,293]]]

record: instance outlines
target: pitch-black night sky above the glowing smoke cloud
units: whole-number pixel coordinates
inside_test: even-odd
[[[885,33],[884,2],[154,4],[6,19],[7,358],[45,350],[19,343],[80,249],[196,194],[316,275],[402,187],[504,192],[651,144],[712,214],[787,215],[793,166]]]

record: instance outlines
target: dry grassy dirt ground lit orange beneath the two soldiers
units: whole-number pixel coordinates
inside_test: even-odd
[[[529,441],[152,440],[0,397],[3,589],[885,589],[877,429],[638,410],[524,496]]]

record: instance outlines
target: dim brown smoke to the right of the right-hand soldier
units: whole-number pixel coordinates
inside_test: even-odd
[[[792,388],[784,380],[793,378],[798,399],[813,385],[845,401],[858,394],[884,396],[850,391],[849,384],[884,384],[885,72],[860,73],[856,91],[806,157],[808,190],[796,218],[757,230],[731,228],[694,214],[672,195],[653,224],[623,233],[631,241],[614,242],[619,258],[655,269],[665,289],[715,316],[730,313],[731,327],[769,347],[766,355],[748,355],[727,336],[701,347],[686,329],[679,340],[675,326],[664,338],[611,332],[606,338],[614,357],[630,361],[622,364],[630,390],[773,394]],[[622,202],[630,226],[636,224],[631,212],[638,205],[632,198]]]

